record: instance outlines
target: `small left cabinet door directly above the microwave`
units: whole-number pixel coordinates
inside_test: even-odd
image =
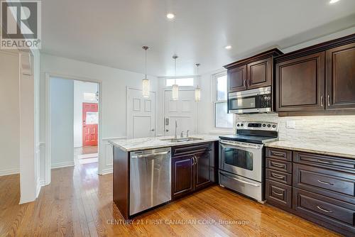
[[[246,65],[228,71],[228,92],[239,92],[246,89]]]

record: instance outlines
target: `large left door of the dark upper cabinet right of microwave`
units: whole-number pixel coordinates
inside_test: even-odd
[[[324,110],[324,52],[276,63],[276,110]]]

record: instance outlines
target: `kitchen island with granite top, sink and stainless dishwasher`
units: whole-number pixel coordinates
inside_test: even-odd
[[[217,181],[218,136],[109,140],[114,203],[126,219]]]

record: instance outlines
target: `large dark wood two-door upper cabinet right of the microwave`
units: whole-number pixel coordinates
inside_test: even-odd
[[[275,57],[279,116],[355,114],[355,34]]]

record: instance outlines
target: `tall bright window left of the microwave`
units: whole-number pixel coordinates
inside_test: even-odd
[[[214,128],[233,128],[233,115],[228,114],[226,72],[214,75]]]

